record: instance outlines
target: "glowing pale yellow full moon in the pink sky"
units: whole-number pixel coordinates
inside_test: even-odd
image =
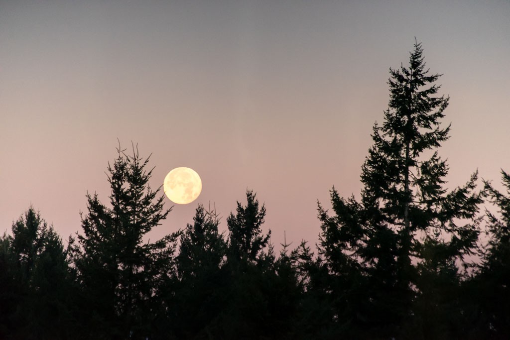
[[[172,202],[188,204],[200,195],[202,180],[193,169],[175,168],[166,175],[163,190]]]

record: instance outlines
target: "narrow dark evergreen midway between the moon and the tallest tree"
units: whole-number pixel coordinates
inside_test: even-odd
[[[217,338],[264,338],[270,336],[271,270],[274,254],[270,231],[262,234],[266,215],[256,194],[246,192],[247,204],[237,202],[237,211],[227,218],[229,230],[225,273],[226,301],[218,315]],[[264,252],[267,249],[267,252]]]

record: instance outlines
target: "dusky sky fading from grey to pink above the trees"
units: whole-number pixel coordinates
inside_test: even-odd
[[[247,189],[281,248],[312,248],[317,201],[360,197],[389,68],[415,37],[450,95],[447,187],[510,171],[510,1],[0,0],[0,232],[30,205],[67,240],[86,194],[108,204],[118,141],[155,167],[156,189],[190,167],[199,203],[226,217]],[[117,141],[118,139],[118,141]],[[163,192],[161,191],[161,194]],[[172,206],[166,200],[166,207]]]

